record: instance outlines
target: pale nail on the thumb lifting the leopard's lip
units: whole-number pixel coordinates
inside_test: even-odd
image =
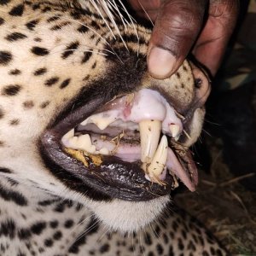
[[[148,71],[157,79],[171,76],[176,57],[166,49],[153,47],[148,56]]]

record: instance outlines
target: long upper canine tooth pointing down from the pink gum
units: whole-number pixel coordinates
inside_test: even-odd
[[[161,122],[159,120],[143,120],[139,123],[141,135],[141,160],[150,163],[157,148]]]

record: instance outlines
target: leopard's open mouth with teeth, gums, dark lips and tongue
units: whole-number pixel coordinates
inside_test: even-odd
[[[42,138],[58,166],[105,195],[147,201],[179,182],[194,191],[197,171],[177,142],[183,117],[156,90],[143,89],[101,106],[88,102]]]

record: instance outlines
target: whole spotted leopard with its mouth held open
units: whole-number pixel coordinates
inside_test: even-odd
[[[228,255],[172,201],[209,79],[153,78],[151,31],[121,1],[0,0],[0,255]]]

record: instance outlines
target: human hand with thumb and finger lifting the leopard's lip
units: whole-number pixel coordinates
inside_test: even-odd
[[[148,45],[148,70],[157,79],[175,73],[192,49],[214,75],[236,26],[239,0],[129,0],[154,30]]]

